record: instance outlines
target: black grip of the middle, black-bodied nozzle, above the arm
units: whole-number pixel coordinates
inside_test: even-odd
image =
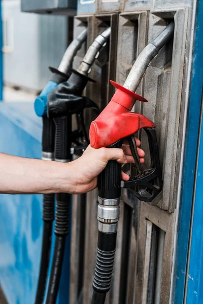
[[[55,123],[55,151],[56,160],[67,161],[71,159],[72,143],[72,116],[64,116],[54,119]]]

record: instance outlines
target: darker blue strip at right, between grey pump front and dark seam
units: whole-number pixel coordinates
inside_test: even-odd
[[[199,7],[198,7],[199,5]],[[179,233],[177,249],[177,271],[175,279],[175,298],[173,303],[181,304],[184,300],[184,289],[187,267],[188,242],[191,221],[191,207],[194,187],[195,162],[197,155],[198,130],[202,97],[203,69],[203,3],[197,1],[195,47],[193,54],[192,78],[189,99],[189,113],[186,131],[186,145],[183,166],[183,188],[179,215]],[[199,248],[200,250],[200,248]],[[193,303],[190,301],[188,303]]]

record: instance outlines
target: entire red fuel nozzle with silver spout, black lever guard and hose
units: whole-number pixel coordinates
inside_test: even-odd
[[[172,39],[174,23],[166,28],[141,52],[124,83],[117,89],[106,108],[90,126],[90,144],[93,148],[121,148],[124,138],[129,139],[130,150],[138,168],[137,176],[121,181],[121,165],[109,161],[106,169],[98,176],[98,243],[93,280],[91,304],[104,304],[110,290],[116,250],[117,225],[121,187],[136,187],[135,195],[141,201],[152,201],[162,190],[161,169],[155,125],[138,113],[131,112],[136,100],[147,100],[135,93],[151,60]],[[134,133],[144,129],[149,141],[150,169],[143,170],[139,161]]]

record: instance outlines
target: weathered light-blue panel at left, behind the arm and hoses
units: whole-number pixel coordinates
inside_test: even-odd
[[[1,152],[40,159],[41,133],[41,119],[33,104],[0,105]],[[0,284],[9,304],[34,302],[42,245],[41,214],[41,195],[0,195]],[[53,247],[54,242],[52,252]],[[69,274],[67,238],[58,304],[69,302]]]

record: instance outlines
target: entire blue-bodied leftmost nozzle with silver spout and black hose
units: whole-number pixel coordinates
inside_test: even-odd
[[[86,41],[87,29],[84,29],[76,39],[72,41],[66,49],[63,58],[58,66],[58,69],[49,67],[52,71],[52,78],[47,86],[37,97],[35,101],[35,111],[38,116],[42,116],[41,104],[47,102],[47,95],[60,83],[67,81],[70,77],[70,67],[74,56],[81,48],[82,44]],[[47,161],[54,160],[54,138],[55,138],[55,125],[53,119],[48,119],[46,115],[42,116],[43,120],[43,134],[42,134],[42,159]],[[47,281],[47,272],[49,267],[49,256],[51,248],[51,235],[52,235],[52,222],[54,220],[54,194],[43,195],[43,243],[42,254],[40,262],[40,274],[38,279],[38,287],[36,293],[35,303],[43,303],[45,287]]]

